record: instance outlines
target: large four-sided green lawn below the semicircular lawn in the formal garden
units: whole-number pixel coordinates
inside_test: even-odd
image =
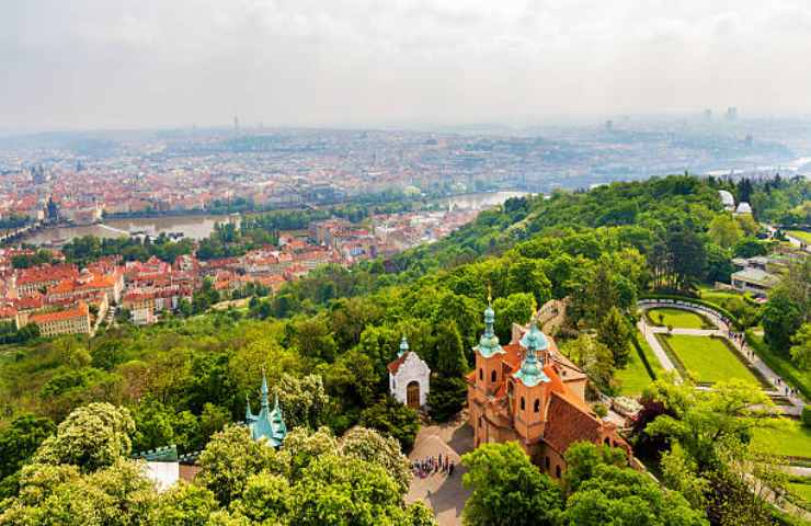
[[[741,363],[719,338],[687,336],[682,334],[656,335],[670,347],[684,368],[696,376],[697,381],[715,384],[732,378],[761,385],[758,378]]]

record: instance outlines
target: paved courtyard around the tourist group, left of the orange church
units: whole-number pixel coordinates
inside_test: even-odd
[[[442,454],[443,458],[449,456],[456,469],[453,476],[438,472],[424,479],[414,477],[406,502],[424,502],[434,511],[439,526],[460,526],[461,511],[470,492],[461,484],[466,469],[459,464],[459,457],[472,449],[473,430],[467,425],[467,411],[447,424],[420,427],[409,460],[413,462]]]

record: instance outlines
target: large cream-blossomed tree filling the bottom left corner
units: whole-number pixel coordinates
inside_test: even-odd
[[[144,465],[129,460],[126,409],[75,410],[20,471],[20,492],[0,503],[0,525],[146,525],[156,503]]]

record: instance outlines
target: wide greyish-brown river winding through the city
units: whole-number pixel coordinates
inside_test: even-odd
[[[481,192],[446,197],[441,202],[446,206],[453,203],[455,208],[482,209],[500,205],[510,197],[522,195],[526,195],[526,192]],[[179,232],[185,238],[199,240],[212,233],[215,224],[227,221],[229,217],[237,217],[238,220],[238,216],[207,214],[106,219],[99,225],[44,228],[26,237],[24,242],[36,245],[61,244],[82,236],[122,238],[135,232],[146,232],[150,236],[158,236],[161,232]]]

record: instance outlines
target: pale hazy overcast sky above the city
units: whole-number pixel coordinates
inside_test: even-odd
[[[811,112],[809,0],[0,0],[0,128]]]

